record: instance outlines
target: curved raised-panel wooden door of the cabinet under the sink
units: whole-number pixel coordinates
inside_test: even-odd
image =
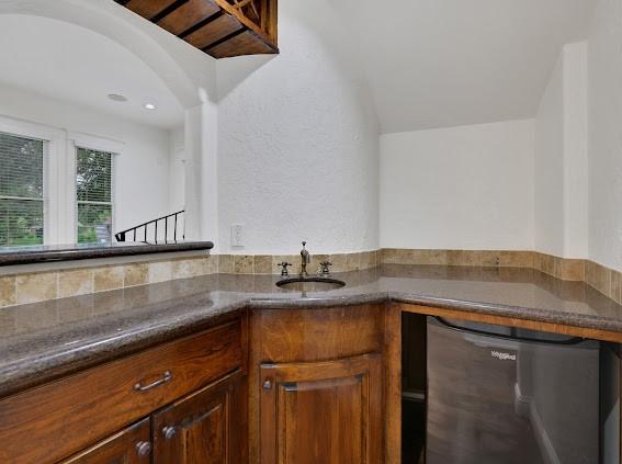
[[[262,464],[382,461],[380,354],[260,369]]]

